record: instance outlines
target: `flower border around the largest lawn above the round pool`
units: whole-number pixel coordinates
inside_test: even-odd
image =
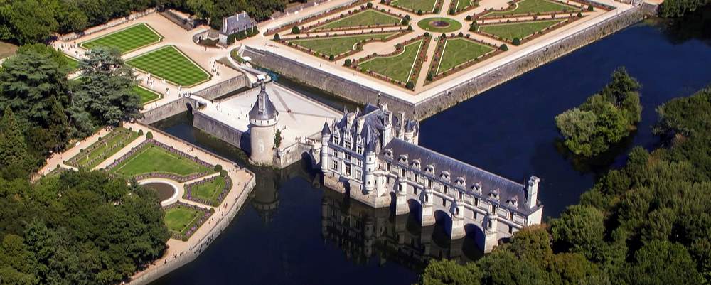
[[[176,155],[181,156],[183,158],[187,158],[195,163],[198,163],[199,165],[210,169],[210,171],[212,171],[212,169],[213,169],[213,166],[210,165],[210,163],[201,161],[200,159],[198,159],[195,156],[189,156],[188,154],[184,153],[183,151],[178,151],[177,149],[173,149],[173,146],[163,144],[160,141],[156,141],[154,139],[146,139],[138,146],[132,148],[131,151],[127,152],[126,154],[124,154],[123,156],[121,156],[120,158],[118,158],[117,160],[112,162],[111,164],[109,164],[109,166],[107,166],[105,169],[107,171],[113,171],[114,168],[119,166],[122,162],[126,161],[129,158],[132,158],[134,155],[143,151],[144,148],[150,147],[150,146],[161,147],[161,148],[165,149],[166,151],[171,152],[171,154],[176,154]],[[161,172],[161,171],[154,171],[154,172],[150,172],[150,173],[141,173],[141,174],[138,174],[138,175],[135,175],[132,177],[136,178],[136,180],[142,180],[142,179],[147,179],[147,178],[166,178],[166,179],[170,179],[173,181],[186,182],[186,181],[191,181],[193,179],[201,178],[201,177],[206,176],[210,173],[213,173],[210,171],[201,171],[199,173],[193,173],[193,174],[186,175],[186,176],[178,175],[176,173],[166,173],[166,172]]]

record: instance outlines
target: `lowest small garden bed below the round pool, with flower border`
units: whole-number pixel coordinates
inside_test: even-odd
[[[164,222],[171,237],[186,242],[215,213],[213,208],[202,208],[177,202],[163,208]]]

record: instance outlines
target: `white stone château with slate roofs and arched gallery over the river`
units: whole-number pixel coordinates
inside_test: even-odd
[[[397,215],[417,209],[423,226],[446,218],[452,239],[467,233],[485,252],[540,224],[539,178],[525,185],[418,146],[419,123],[382,107],[347,112],[321,131],[324,185]]]

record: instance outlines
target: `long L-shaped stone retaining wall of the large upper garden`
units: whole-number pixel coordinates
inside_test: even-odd
[[[347,78],[312,68],[309,65],[292,60],[291,58],[286,58],[282,55],[277,55],[269,50],[245,47],[244,55],[252,58],[253,64],[273,70],[274,72],[306,85],[331,92],[333,95],[346,98],[347,100],[355,101],[360,104],[366,102],[376,104],[378,97],[380,97],[380,102],[387,103],[388,108],[392,111],[396,113],[405,112],[405,114],[415,117],[415,119],[422,120],[506,82],[513,77],[521,75],[524,72],[528,72],[562,55],[566,55],[577,48],[597,41],[599,38],[608,36],[627,26],[631,26],[641,21],[643,17],[641,9],[638,8],[621,12],[583,31],[550,43],[539,50],[533,51],[533,53],[512,60],[485,74],[452,87],[450,90],[447,90],[447,92],[439,93],[416,104],[400,100],[397,97],[387,95],[371,87],[360,85]]]

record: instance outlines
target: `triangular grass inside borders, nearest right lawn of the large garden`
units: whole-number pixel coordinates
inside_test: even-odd
[[[455,68],[457,65],[466,63],[469,60],[479,57],[493,50],[490,46],[475,43],[464,38],[453,38],[447,40],[442,53],[442,60],[439,62],[437,74]]]

